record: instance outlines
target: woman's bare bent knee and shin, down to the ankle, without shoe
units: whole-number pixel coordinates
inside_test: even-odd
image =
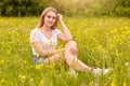
[[[93,68],[84,64],[80,61],[78,56],[77,43],[75,41],[69,41],[65,46],[65,61],[69,66],[70,69],[81,72],[92,72]]]

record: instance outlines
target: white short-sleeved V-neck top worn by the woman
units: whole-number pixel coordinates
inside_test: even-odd
[[[30,32],[30,43],[34,43],[36,41],[40,41],[42,43],[43,49],[53,51],[57,46],[57,35],[60,33],[61,33],[60,30],[54,29],[54,30],[52,30],[52,38],[48,39],[38,28],[35,28]],[[34,46],[32,46],[32,55],[38,55],[38,53]]]

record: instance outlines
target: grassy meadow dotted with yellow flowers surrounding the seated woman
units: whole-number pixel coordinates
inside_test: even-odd
[[[114,69],[110,74],[101,76],[78,72],[77,78],[68,74],[64,63],[32,64],[29,32],[38,19],[0,17],[0,86],[130,85],[130,18],[64,17],[77,41],[78,58],[93,68]]]

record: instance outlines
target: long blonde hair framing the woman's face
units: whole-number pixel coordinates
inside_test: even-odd
[[[40,20],[38,24],[38,28],[41,28],[44,24],[44,16],[50,12],[54,12],[56,14],[56,20],[55,24],[51,27],[51,29],[55,29],[57,27],[57,11],[54,8],[47,8],[42,11],[41,15],[40,15]]]

